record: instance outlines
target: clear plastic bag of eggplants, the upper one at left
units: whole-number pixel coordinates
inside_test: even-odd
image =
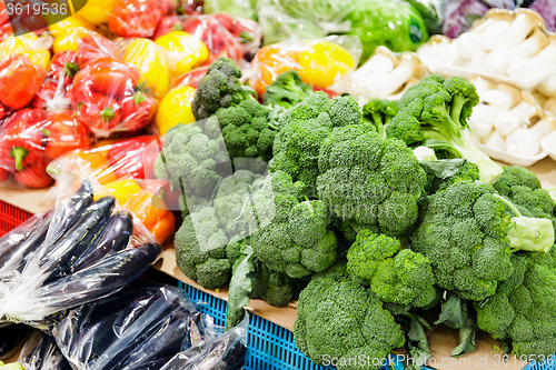
[[[56,207],[0,239],[0,319],[46,331],[52,314],[117,293],[161,252],[115,198],[96,198],[93,179],[57,180]]]

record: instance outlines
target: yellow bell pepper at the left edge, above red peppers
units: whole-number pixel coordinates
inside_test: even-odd
[[[16,54],[27,56],[34,66],[40,66],[48,70],[50,63],[50,43],[43,37],[34,33],[22,36],[10,36],[0,42],[0,58],[9,58]]]

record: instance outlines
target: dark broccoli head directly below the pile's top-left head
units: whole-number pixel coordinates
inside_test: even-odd
[[[276,130],[268,124],[269,112],[256,100],[244,100],[237,106],[216,111],[228,157],[236,170],[238,167],[254,172],[266,170],[265,164],[272,157],[276,137]]]

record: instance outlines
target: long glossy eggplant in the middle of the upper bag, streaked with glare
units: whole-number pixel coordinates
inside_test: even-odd
[[[108,224],[110,213],[116,203],[112,197],[103,197],[91,203],[63,237],[48,248],[40,260],[41,272],[48,273],[44,284],[63,277],[69,270],[72,259],[78,258],[89,243],[102,232]],[[56,261],[56,262],[54,262]]]

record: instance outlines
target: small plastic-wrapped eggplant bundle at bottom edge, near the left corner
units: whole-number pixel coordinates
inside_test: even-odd
[[[26,370],[71,370],[54,338],[34,331],[23,346],[18,362]]]

